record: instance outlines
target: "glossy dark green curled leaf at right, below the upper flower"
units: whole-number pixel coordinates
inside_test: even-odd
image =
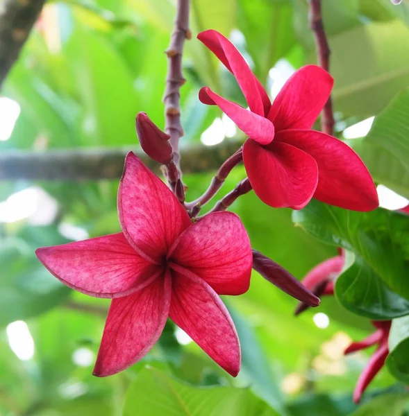
[[[402,239],[409,226],[406,217],[382,209],[348,211],[312,200],[294,211],[293,220],[318,239],[356,255],[335,285],[335,295],[347,309],[373,319],[409,313],[408,241]]]

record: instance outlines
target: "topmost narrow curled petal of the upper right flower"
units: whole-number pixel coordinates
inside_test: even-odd
[[[271,107],[267,92],[235,46],[221,33],[213,30],[199,33],[197,39],[203,42],[233,73],[250,110],[259,116],[267,116]]]

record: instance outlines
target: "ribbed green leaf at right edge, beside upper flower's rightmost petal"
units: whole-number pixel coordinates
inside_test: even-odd
[[[375,117],[368,135],[351,140],[376,182],[409,198],[409,88]]]

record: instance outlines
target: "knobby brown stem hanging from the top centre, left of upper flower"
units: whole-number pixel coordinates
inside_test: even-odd
[[[181,174],[179,139],[183,136],[179,89],[185,83],[182,73],[183,45],[185,39],[190,39],[192,36],[189,30],[189,6],[190,0],[178,0],[174,31],[166,51],[168,67],[165,95],[163,96],[166,117],[165,132],[170,136],[170,144],[174,150],[174,163],[178,168],[179,175]]]

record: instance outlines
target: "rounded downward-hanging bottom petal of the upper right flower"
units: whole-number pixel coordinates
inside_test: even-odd
[[[254,192],[270,207],[301,209],[317,187],[317,163],[289,144],[272,142],[262,147],[249,139],[244,143],[243,161]]]

